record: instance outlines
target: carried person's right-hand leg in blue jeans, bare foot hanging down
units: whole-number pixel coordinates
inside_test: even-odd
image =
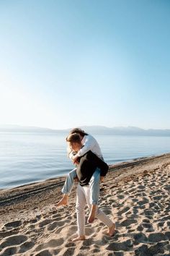
[[[97,205],[99,203],[99,182],[100,182],[100,169],[97,168],[96,171],[94,171],[94,174],[91,176],[91,180],[89,182],[90,203],[91,203],[91,210],[88,218],[89,223],[92,223],[94,221]]]

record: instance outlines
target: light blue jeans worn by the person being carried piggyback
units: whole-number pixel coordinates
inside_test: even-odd
[[[76,168],[69,172],[66,182],[63,185],[61,192],[63,194],[68,194],[71,192],[73,187],[73,179],[77,176]],[[91,205],[98,205],[99,203],[99,181],[100,181],[100,169],[97,168],[94,174],[91,176],[89,187],[90,187],[90,203]]]

